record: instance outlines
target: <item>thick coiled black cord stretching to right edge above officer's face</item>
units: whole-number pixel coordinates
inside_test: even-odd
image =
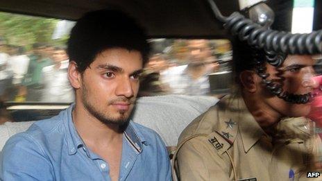
[[[305,34],[291,34],[285,31],[265,29],[251,19],[246,19],[239,12],[234,12],[224,24],[232,35],[247,41],[257,49],[265,49],[285,54],[318,54],[322,52],[322,31]],[[273,62],[274,66],[280,64]]]

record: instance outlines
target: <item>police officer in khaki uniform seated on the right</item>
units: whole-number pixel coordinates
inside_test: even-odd
[[[254,58],[264,60],[263,51],[246,44],[234,49],[238,93],[224,97],[180,135],[174,157],[180,180],[302,180],[307,171],[321,171],[321,139],[305,118],[310,102],[294,103],[314,89],[314,60],[288,55],[276,69]],[[289,101],[264,86],[260,69],[292,95]]]

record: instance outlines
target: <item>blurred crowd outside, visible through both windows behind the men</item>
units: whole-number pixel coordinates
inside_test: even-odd
[[[151,56],[141,76],[139,96],[210,95],[208,75],[230,71],[228,40],[150,40]],[[0,99],[71,103],[69,58],[64,46],[35,43],[28,51],[0,39]]]

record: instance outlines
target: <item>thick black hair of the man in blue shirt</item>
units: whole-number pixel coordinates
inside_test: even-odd
[[[124,12],[97,10],[87,12],[77,21],[71,30],[67,53],[80,73],[90,66],[98,53],[112,48],[139,51],[144,64],[149,54],[146,39],[144,30]]]

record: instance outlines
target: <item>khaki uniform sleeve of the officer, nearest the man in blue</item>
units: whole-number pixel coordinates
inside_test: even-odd
[[[180,180],[231,180],[227,163],[207,139],[195,137],[178,150],[178,173]]]

